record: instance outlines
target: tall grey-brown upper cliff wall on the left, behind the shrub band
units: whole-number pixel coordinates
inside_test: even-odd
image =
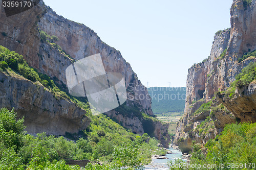
[[[1,6],[0,25],[1,45],[22,54],[30,66],[50,76],[66,90],[66,68],[73,61],[100,53],[105,70],[121,73],[128,92],[128,99],[121,109],[106,114],[135,133],[147,131],[143,127],[145,121],[141,112],[154,115],[147,89],[121,53],[101,41],[93,30],[57,15],[43,1],[28,11],[9,17]],[[47,37],[56,36],[58,40],[42,39],[40,32],[45,32]],[[167,143],[164,146],[168,147],[169,135],[158,134],[157,129],[166,130],[166,126],[157,123],[151,132],[155,132],[153,136]]]

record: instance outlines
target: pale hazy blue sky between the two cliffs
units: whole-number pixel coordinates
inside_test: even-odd
[[[232,0],[44,0],[119,50],[148,87],[186,86],[187,70],[210,54],[214,34],[230,27]]]

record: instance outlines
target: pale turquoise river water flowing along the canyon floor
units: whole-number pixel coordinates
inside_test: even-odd
[[[173,162],[175,159],[181,159],[182,153],[179,150],[175,150],[173,148],[168,149],[173,152],[173,154],[167,154],[166,157],[168,159],[153,159],[150,165],[147,165],[145,169],[147,170],[166,170],[169,169],[167,162],[172,160]],[[185,159],[183,159],[186,161]]]

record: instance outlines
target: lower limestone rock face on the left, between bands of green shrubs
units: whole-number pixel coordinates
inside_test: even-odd
[[[65,135],[78,133],[90,125],[86,111],[70,101],[56,100],[44,86],[0,73],[0,108],[14,108],[17,117],[24,116],[30,134],[46,132]]]

